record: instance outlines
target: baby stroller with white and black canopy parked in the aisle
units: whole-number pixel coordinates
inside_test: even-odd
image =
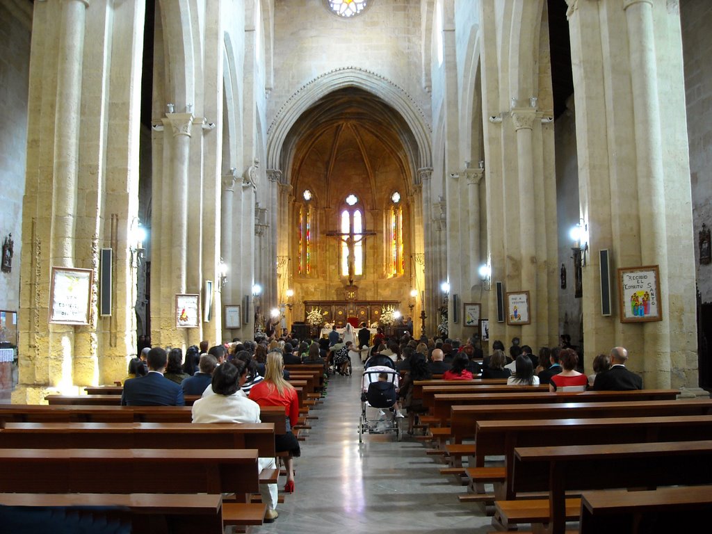
[[[385,375],[385,380],[379,380]],[[385,366],[369,367],[361,381],[361,418],[358,425],[358,441],[363,443],[363,435],[395,432],[401,441],[402,431],[399,419],[402,415],[393,408],[398,400],[400,376],[396,370]]]

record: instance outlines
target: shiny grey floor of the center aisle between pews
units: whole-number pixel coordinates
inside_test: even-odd
[[[330,377],[328,396],[311,414],[302,456],[295,459],[296,491],[277,508],[275,523],[251,533],[441,533],[480,534],[490,518],[457,500],[464,486],[441,476],[421,442],[394,433],[365,434],[361,414],[360,362],[351,377]],[[407,421],[403,421],[407,424]],[[280,478],[284,480],[283,477]]]

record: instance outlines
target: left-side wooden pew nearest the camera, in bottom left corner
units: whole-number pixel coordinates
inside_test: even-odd
[[[23,508],[120,507],[120,510],[83,511],[96,521],[104,518],[130,524],[132,534],[223,533],[220,495],[163,495],[159,493],[0,493],[0,506]],[[28,510],[28,513],[31,512]],[[34,511],[32,511],[34,512]],[[58,512],[55,512],[55,515]]]

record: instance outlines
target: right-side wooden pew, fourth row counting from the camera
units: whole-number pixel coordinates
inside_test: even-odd
[[[455,443],[473,439],[480,421],[513,419],[586,419],[601,417],[656,417],[712,414],[712,399],[674,401],[567,402],[560,404],[508,404],[451,407],[451,432]]]

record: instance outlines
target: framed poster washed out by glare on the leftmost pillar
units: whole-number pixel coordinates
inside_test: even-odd
[[[92,269],[53,267],[49,289],[49,322],[88,325],[91,321]]]

